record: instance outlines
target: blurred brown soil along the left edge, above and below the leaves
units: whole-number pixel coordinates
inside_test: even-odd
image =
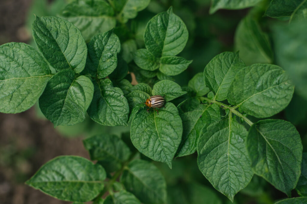
[[[31,0],[0,0],[0,45],[26,42],[25,18]],[[34,108],[23,113],[0,113],[0,204],[62,204],[28,187],[41,165],[59,155],[88,158],[82,139],[64,138],[47,120],[36,117]]]

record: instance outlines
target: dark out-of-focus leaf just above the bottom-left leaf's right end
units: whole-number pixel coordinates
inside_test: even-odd
[[[89,151],[91,160],[104,164],[107,172],[118,170],[131,154],[129,147],[116,135],[95,135],[84,139],[83,144]]]

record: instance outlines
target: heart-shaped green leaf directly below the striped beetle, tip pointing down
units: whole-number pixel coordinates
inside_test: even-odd
[[[140,109],[132,120],[130,135],[134,147],[142,154],[171,168],[182,135],[178,109],[171,102],[165,103],[159,114]]]

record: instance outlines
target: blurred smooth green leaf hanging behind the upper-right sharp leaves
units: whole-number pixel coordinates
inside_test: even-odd
[[[243,18],[236,29],[235,51],[240,51],[240,58],[247,65],[273,62],[269,36],[250,16]]]

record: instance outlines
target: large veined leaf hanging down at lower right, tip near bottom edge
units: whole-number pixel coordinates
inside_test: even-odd
[[[232,202],[237,192],[251,181],[251,160],[247,156],[247,131],[229,118],[212,123],[200,135],[197,164],[216,190]]]

